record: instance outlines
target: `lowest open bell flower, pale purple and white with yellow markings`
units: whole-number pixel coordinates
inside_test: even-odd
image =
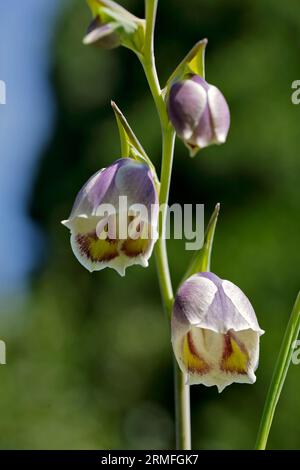
[[[213,273],[191,276],[179,288],[172,344],[189,384],[254,383],[260,329],[252,305],[232,282]]]

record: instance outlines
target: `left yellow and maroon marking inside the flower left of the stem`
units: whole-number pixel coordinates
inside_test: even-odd
[[[110,261],[119,255],[117,240],[100,240],[96,233],[77,235],[76,241],[81,254],[91,261]]]

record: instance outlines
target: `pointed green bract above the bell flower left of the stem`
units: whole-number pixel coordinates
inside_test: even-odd
[[[118,108],[114,101],[111,101],[111,106],[114,110],[119,129],[122,157],[133,158],[134,160],[148,165],[151,169],[155,183],[159,187],[159,180],[152,161],[148,157],[135,133],[128,124],[128,121],[125,118],[124,114]]]

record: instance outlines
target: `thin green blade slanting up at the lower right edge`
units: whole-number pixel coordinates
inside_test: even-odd
[[[266,398],[255,448],[265,450],[274,413],[293,355],[293,345],[300,330],[300,293],[296,299],[286,332],[283,338],[270,388]]]

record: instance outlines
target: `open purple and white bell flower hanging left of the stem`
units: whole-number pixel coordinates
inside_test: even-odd
[[[158,194],[148,165],[121,158],[98,171],[79,192],[68,220],[71,246],[89,271],[125,274],[148,266],[157,240]]]

